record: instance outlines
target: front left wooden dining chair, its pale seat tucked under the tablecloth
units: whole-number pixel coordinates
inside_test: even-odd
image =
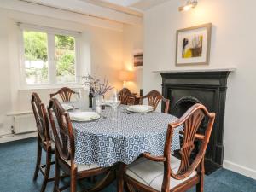
[[[55,186],[54,191],[62,191],[70,187],[71,192],[76,191],[76,183],[85,177],[93,177],[109,168],[93,165],[78,165],[74,162],[75,144],[73,126],[68,113],[61,107],[56,98],[49,102],[49,119],[55,137]],[[60,171],[70,175],[70,184],[60,188]],[[96,191],[96,190],[95,190]]]

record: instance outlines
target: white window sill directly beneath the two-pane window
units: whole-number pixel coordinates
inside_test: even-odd
[[[82,84],[40,84],[40,85],[27,85],[20,87],[18,90],[55,90],[61,89],[62,87],[69,87],[71,89],[81,89],[84,88]]]

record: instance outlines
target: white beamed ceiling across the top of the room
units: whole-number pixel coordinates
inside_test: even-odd
[[[11,2],[13,1],[69,10],[77,14],[130,25],[141,25],[145,10],[170,0],[12,0]]]

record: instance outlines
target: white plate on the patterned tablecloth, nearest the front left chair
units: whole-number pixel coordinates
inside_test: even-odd
[[[69,117],[74,121],[90,121],[94,119],[99,119],[100,115],[95,112],[74,112],[69,113]]]

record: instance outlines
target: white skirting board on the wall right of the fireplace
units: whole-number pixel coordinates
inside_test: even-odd
[[[241,175],[256,179],[256,170],[253,170],[253,169],[248,168],[246,166],[240,166],[240,165],[238,165],[236,163],[233,163],[229,160],[224,160],[224,165],[223,166],[224,166],[225,169],[228,169],[230,171],[238,172]]]

